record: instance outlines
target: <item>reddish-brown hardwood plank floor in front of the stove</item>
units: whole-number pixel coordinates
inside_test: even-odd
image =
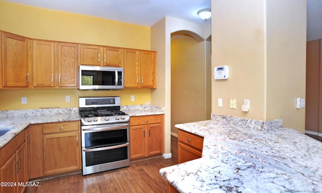
[[[72,174],[42,180],[38,187],[27,187],[26,193],[38,192],[167,192],[168,182],[159,169],[177,164],[178,139],[171,136],[171,159],[163,157],[131,163],[129,167],[83,176]]]

